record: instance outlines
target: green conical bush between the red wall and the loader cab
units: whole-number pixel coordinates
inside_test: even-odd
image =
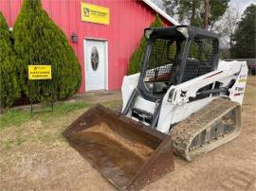
[[[162,21],[158,15],[155,16],[155,21],[151,24],[150,27],[161,27],[163,26]],[[137,49],[133,53],[132,57],[129,61],[129,75],[136,74],[140,71],[140,61],[143,58],[144,49],[146,47],[147,41],[143,35],[143,37],[140,40],[139,45],[137,46]]]

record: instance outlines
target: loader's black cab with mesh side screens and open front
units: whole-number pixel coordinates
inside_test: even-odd
[[[192,26],[146,28],[147,46],[138,80],[141,96],[162,99],[172,85],[207,74],[217,67],[219,36]]]

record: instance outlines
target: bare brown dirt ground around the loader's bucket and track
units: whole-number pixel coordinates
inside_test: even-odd
[[[256,190],[255,80],[250,77],[247,81],[244,123],[238,138],[192,163],[175,157],[174,172],[143,190]],[[62,131],[83,112],[1,130],[1,190],[115,190],[62,138]],[[21,141],[4,147],[17,138]]]

